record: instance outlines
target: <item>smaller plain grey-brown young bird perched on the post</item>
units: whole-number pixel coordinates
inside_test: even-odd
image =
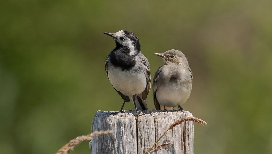
[[[166,107],[181,107],[192,91],[192,71],[185,55],[171,49],[164,53],[154,53],[161,57],[164,65],[159,67],[153,78],[153,100],[156,110],[166,111]]]

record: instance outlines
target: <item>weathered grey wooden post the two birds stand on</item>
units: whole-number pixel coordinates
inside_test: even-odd
[[[94,137],[90,142],[91,153],[143,154],[174,121],[185,117],[193,117],[193,115],[189,111],[153,110],[151,112],[146,110],[139,113],[136,119],[135,111],[117,114],[97,111],[92,123],[92,132],[109,129],[113,130],[113,133]],[[193,154],[193,129],[193,121],[181,123],[168,131],[157,143],[157,145],[164,142],[171,142],[171,144],[153,150],[151,153]]]

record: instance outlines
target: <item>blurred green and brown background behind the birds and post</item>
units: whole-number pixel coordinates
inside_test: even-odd
[[[131,30],[151,63],[182,51],[193,72],[182,106],[195,153],[272,153],[272,1],[9,0],[0,5],[0,153],[55,153],[91,132],[97,110],[121,108],[104,71],[113,39]],[[151,89],[152,91],[152,89]],[[152,92],[147,97],[154,109]],[[125,109],[134,109],[127,103]],[[88,142],[74,154],[89,153]]]

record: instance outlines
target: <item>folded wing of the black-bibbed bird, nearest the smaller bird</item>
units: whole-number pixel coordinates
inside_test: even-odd
[[[147,60],[147,58],[144,55],[140,55],[140,59],[142,61],[142,63],[144,64],[144,73],[146,75],[146,82],[147,82],[147,86],[145,88],[145,90],[142,92],[142,99],[146,100],[147,95],[150,91],[150,69],[149,69],[149,62]]]

